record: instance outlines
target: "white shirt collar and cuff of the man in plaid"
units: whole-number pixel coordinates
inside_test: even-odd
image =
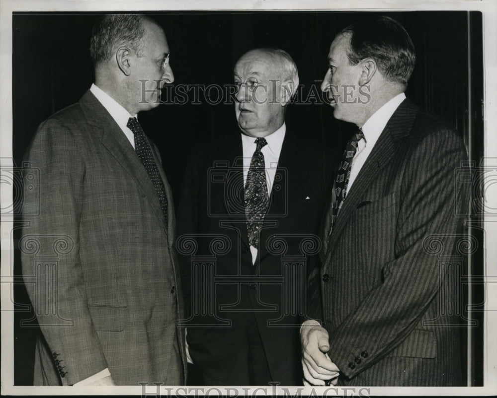
[[[112,119],[115,120],[117,125],[121,128],[128,141],[131,143],[133,148],[135,147],[135,135],[133,132],[126,127],[128,124],[129,118],[132,118],[129,112],[124,109],[120,104],[118,104],[109,94],[104,92],[102,89],[98,88],[95,84],[92,84],[90,87],[91,93],[96,97],[98,102],[100,102],[103,107],[107,110],[107,112],[112,116]],[[136,118],[136,115],[134,116]],[[73,386],[87,386],[90,383],[96,382],[100,379],[110,376],[110,372],[108,368],[87,377],[75,383]]]

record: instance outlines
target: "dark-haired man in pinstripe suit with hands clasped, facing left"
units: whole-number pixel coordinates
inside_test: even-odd
[[[334,117],[354,123],[323,231],[323,324],[302,328],[308,384],[462,384],[456,273],[439,261],[465,240],[455,185],[458,134],[404,91],[411,38],[395,20],[355,23],[331,43],[322,84]],[[339,376],[338,376],[339,375]]]

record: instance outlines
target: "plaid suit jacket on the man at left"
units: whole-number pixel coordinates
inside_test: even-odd
[[[118,385],[183,384],[162,167],[167,225],[138,155],[90,91],[40,125],[25,161],[39,180],[25,181],[23,275],[38,277],[26,287],[48,343],[38,341],[34,383],[72,385],[108,367]]]

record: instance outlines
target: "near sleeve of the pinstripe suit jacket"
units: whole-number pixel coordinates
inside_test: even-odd
[[[440,129],[419,140],[410,153],[399,213],[386,213],[397,217],[395,259],[383,266],[383,283],[330,335],[331,360],[347,377],[364,371],[400,345],[440,294],[443,276],[437,256],[423,247],[425,238],[443,235],[453,252],[454,235],[462,231],[463,220],[455,211],[456,206],[459,211],[467,206],[469,192],[455,186],[455,171],[466,159],[459,137]],[[361,355],[364,352],[366,359]],[[361,359],[361,366],[349,366],[355,358]]]

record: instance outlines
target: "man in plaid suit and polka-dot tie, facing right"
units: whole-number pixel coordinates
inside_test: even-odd
[[[95,84],[40,125],[25,156],[39,170],[20,242],[43,332],[34,384],[183,384],[173,201],[136,119],[174,79],[166,36],[145,16],[106,15],[90,54]]]

